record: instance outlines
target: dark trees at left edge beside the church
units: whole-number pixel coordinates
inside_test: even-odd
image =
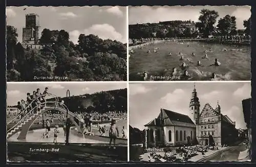
[[[145,131],[129,126],[130,144],[141,144],[145,141]]]

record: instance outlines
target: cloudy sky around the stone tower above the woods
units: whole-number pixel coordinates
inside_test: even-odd
[[[7,25],[16,27],[19,42],[22,42],[25,16],[29,13],[39,15],[39,34],[43,29],[65,30],[75,44],[80,34],[94,34],[122,43],[127,41],[125,7],[7,7]]]

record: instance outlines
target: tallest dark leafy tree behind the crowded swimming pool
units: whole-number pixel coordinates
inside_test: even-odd
[[[208,37],[214,31],[214,24],[216,23],[217,17],[219,17],[218,12],[215,10],[202,9],[200,12],[199,20],[196,25],[205,37]]]

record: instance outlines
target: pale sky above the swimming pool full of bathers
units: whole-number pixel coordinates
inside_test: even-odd
[[[238,29],[244,29],[243,21],[251,16],[250,6],[142,6],[129,7],[129,24],[189,19],[198,21],[202,9],[217,11],[217,20],[227,14],[236,16]]]

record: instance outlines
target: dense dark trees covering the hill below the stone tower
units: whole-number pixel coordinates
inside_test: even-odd
[[[121,42],[80,34],[75,45],[65,30],[44,29],[38,50],[24,48],[17,36],[15,27],[7,25],[8,81],[32,81],[34,76],[126,80],[126,46]]]

